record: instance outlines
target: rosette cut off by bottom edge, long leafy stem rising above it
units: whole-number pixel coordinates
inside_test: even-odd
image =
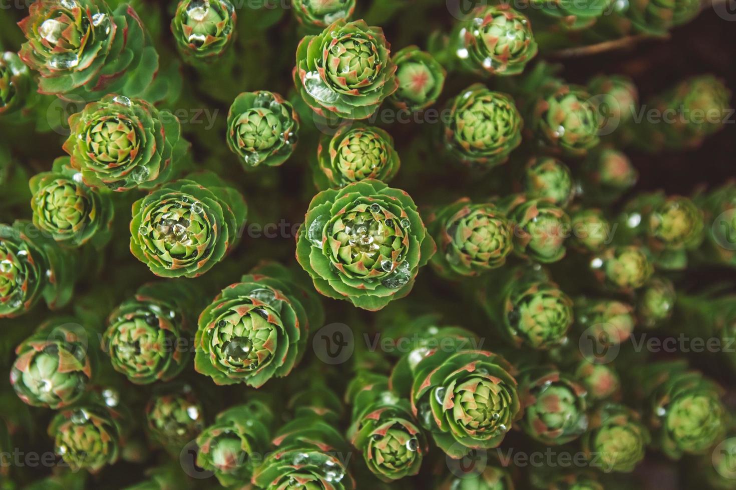
[[[317,381],[290,405],[297,407],[294,419],[277,430],[276,449],[255,469],[252,483],[259,489],[355,490],[348,444],[336,429],[339,398]]]

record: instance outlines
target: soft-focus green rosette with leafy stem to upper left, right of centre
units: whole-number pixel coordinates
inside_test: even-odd
[[[489,276],[477,295],[495,328],[515,347],[556,347],[566,341],[573,325],[573,300],[533,267]]]

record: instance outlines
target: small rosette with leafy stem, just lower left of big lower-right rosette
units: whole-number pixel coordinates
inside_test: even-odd
[[[353,406],[347,439],[362,453],[369,471],[387,483],[417,475],[429,450],[427,439],[409,400],[389,389],[389,378],[360,372],[345,398]]]

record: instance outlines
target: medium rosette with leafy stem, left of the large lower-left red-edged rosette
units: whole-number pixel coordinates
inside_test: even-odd
[[[199,303],[183,279],[145,284],[107,318],[102,350],[132,383],[170,381],[191,360]]]

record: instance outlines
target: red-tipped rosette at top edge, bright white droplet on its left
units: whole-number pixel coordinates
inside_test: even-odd
[[[537,41],[529,19],[511,4],[484,4],[455,26],[447,49],[463,71],[507,76],[518,75],[537,56]]]

